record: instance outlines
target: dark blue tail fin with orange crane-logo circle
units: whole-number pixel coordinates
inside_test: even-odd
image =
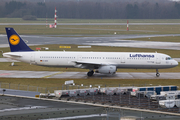
[[[13,28],[8,27],[5,29],[11,52],[33,51],[26,45]]]

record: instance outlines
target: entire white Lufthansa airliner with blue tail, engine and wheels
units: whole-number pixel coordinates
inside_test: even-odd
[[[89,69],[87,76],[94,72],[115,74],[118,68],[156,69],[157,77],[160,76],[158,69],[178,65],[162,53],[33,51],[13,28],[5,29],[11,52],[3,53],[3,56],[34,65]]]

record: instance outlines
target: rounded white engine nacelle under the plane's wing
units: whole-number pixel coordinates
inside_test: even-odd
[[[102,74],[115,74],[116,66],[101,66],[96,70],[96,72]]]

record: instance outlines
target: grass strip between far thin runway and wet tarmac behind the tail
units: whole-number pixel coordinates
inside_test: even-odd
[[[128,35],[128,34],[179,34],[180,25],[151,25],[129,27],[125,25],[58,25],[56,29],[44,25],[1,25],[0,34],[5,33],[5,27],[13,27],[20,35]],[[84,37],[84,36],[83,36]]]

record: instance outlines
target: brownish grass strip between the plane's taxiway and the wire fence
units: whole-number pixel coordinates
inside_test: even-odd
[[[11,83],[11,84],[22,84],[29,86],[39,86],[39,87],[60,87],[64,84],[65,81],[69,79],[27,79],[27,78],[1,78],[0,82],[2,83]],[[116,86],[150,86],[150,84],[156,85],[177,85],[180,86],[180,81],[177,79],[74,79],[76,85],[84,84],[84,86],[89,85],[102,85],[103,87],[112,87]]]

